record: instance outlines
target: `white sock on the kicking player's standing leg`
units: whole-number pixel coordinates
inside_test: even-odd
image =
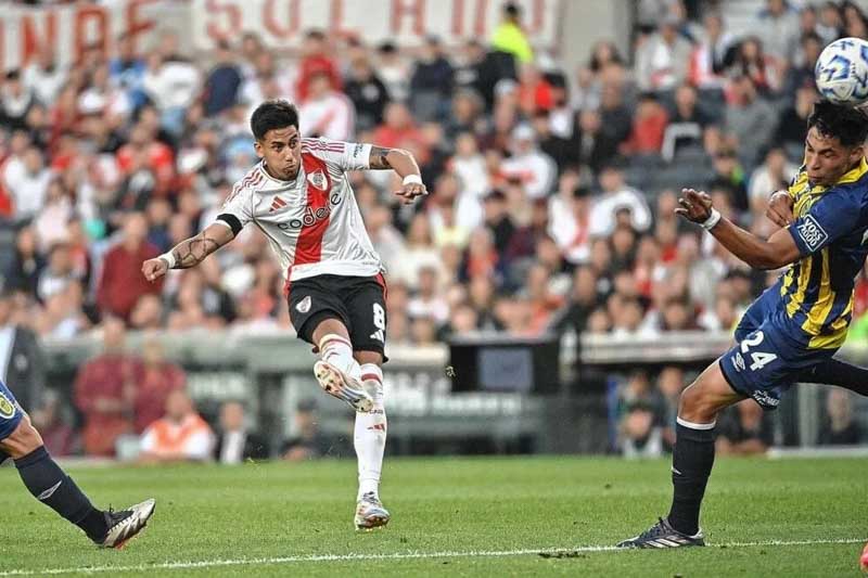
[[[361,365],[361,381],[373,398],[368,413],[356,413],[353,445],[359,463],[359,493],[373,492],[379,497],[383,451],[386,447],[386,410],[383,406],[383,370],[374,363]]]

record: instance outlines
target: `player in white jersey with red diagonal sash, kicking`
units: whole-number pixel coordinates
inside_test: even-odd
[[[290,319],[298,337],[318,348],[314,374],[322,388],[356,411],[354,445],[359,490],[355,524],[384,526],[380,473],[386,439],[383,407],[386,286],[347,171],[393,169],[396,194],[412,203],[426,194],[412,155],[371,144],[303,139],[298,112],[286,101],[254,111],[251,129],[261,162],[235,183],[217,220],[170,252],[142,265],[149,281],[193,267],[255,224],[280,260]]]

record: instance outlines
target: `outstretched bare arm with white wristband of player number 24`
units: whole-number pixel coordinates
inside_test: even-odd
[[[768,241],[764,241],[722,217],[712,207],[712,200],[706,193],[693,189],[684,189],[681,193],[684,196],[678,200],[680,207],[675,213],[702,226],[727,251],[754,269],[779,269],[801,258],[788,229],[780,229]]]

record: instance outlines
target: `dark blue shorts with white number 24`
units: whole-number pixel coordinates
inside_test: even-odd
[[[806,369],[822,363],[837,349],[808,349],[787,334],[792,323],[781,308],[780,287],[774,285],[756,299],[736,327],[736,346],[720,357],[720,371],[736,393],[774,410],[780,396]]]

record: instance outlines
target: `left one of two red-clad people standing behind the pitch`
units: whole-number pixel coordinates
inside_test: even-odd
[[[136,384],[143,367],[141,360],[124,350],[126,329],[122,320],[106,318],[102,337],[102,354],[81,365],[73,391],[75,404],[85,415],[85,453],[112,457],[115,440],[132,432]]]

